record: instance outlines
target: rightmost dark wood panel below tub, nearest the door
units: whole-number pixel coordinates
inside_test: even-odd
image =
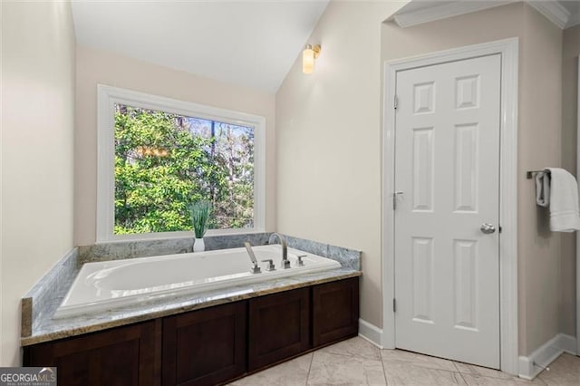
[[[312,294],[314,347],[358,333],[358,277],[315,285]]]

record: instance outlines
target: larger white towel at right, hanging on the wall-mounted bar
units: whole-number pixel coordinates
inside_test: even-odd
[[[550,170],[550,230],[574,232],[580,229],[578,184],[565,169]]]

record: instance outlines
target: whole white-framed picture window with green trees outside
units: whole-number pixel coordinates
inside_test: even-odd
[[[264,229],[263,117],[99,85],[97,241]]]

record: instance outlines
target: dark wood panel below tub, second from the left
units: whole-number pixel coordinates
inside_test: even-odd
[[[246,372],[247,302],[163,318],[163,385],[214,385]]]

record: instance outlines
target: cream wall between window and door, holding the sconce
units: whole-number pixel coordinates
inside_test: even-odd
[[[362,250],[361,317],[382,326],[381,22],[401,4],[331,2],[276,93],[277,230]]]

